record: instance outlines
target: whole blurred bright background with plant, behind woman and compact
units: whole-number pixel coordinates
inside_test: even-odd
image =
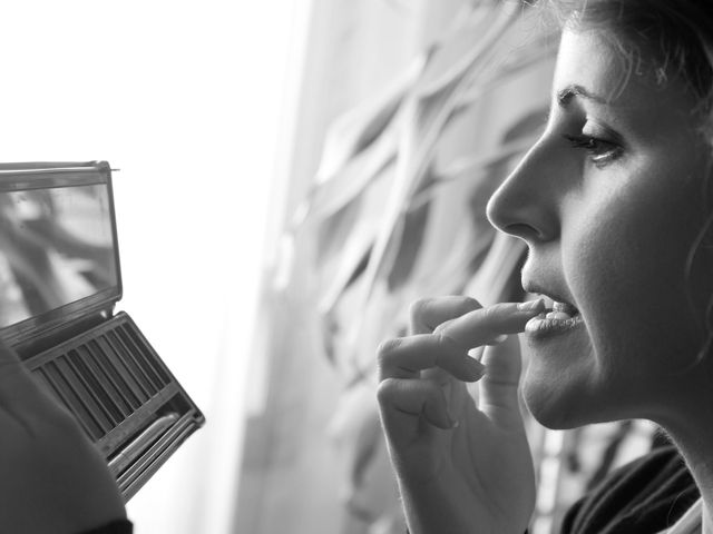
[[[0,159],[120,169],[119,308],[207,418],[137,534],[401,534],[375,347],[421,296],[528,298],[485,205],[546,119],[555,27],[494,0],[0,7]],[[652,432],[528,424],[535,534]]]

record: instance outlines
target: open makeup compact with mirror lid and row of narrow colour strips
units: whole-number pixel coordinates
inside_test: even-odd
[[[125,500],[204,416],[125,312],[106,161],[0,165],[0,335],[105,456]]]

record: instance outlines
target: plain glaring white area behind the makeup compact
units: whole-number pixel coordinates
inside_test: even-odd
[[[227,532],[307,9],[306,0],[0,1],[0,161],[106,159],[121,169],[119,308],[208,419],[129,503],[137,534]]]

